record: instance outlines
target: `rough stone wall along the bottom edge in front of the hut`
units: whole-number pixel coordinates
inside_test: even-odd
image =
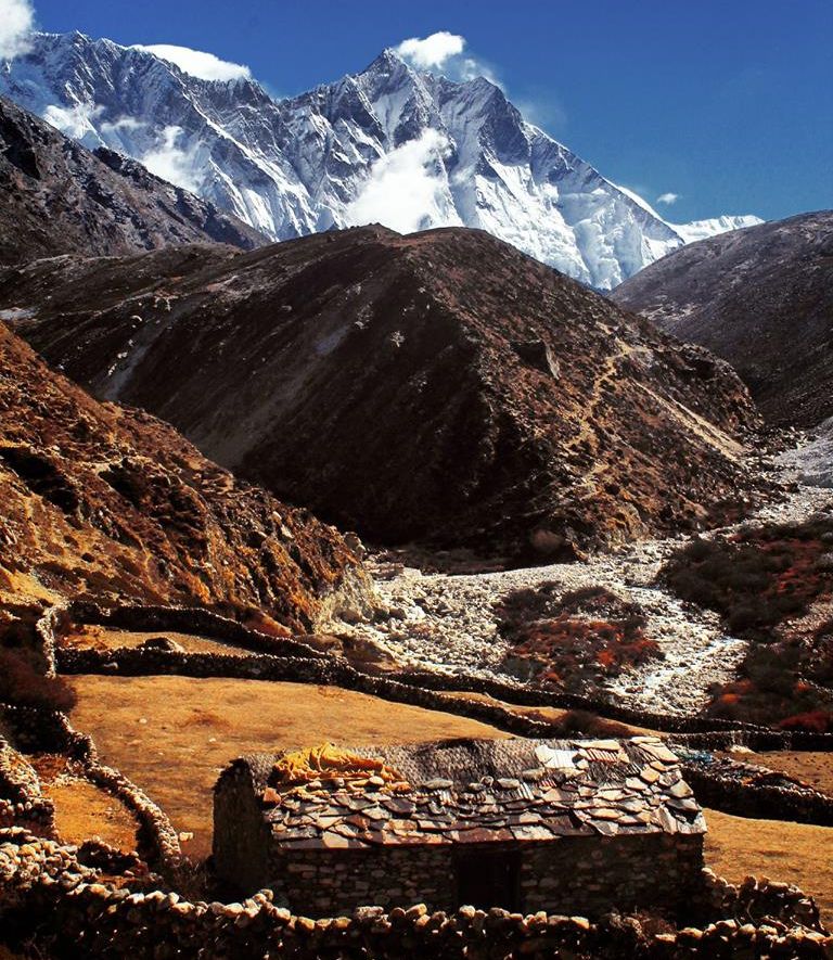
[[[704,870],[692,920],[656,934],[645,918],[591,921],[492,908],[430,911],[425,905],[312,920],[261,891],[235,904],[189,903],[176,893],[102,882],[74,848],[21,830],[0,831],[0,943],[35,956],[295,958],[295,960],[682,960],[824,958],[833,936],[812,900],[769,881],[741,886]]]

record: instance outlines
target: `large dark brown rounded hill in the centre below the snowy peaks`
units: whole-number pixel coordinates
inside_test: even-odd
[[[568,556],[751,485],[728,364],[480,231],[62,259],[0,274],[2,307],[98,395],[387,543]]]

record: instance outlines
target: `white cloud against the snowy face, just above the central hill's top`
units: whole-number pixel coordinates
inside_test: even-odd
[[[399,233],[413,233],[441,222],[446,185],[441,157],[448,149],[446,137],[427,129],[380,157],[361,192],[347,207],[346,223],[384,223]]]

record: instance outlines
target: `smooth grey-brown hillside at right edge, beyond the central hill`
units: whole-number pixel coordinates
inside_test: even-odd
[[[613,299],[728,360],[772,423],[833,414],[833,210],[681,247]]]

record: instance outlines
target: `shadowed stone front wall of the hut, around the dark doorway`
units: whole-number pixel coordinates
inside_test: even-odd
[[[270,886],[293,911],[313,917],[349,913],[368,903],[385,910],[423,903],[430,910],[451,911],[465,906],[458,891],[458,863],[477,854],[518,857],[514,903],[498,906],[525,913],[568,911],[592,918],[638,908],[676,913],[690,901],[703,870],[703,837],[697,834],[355,850],[304,849],[302,842],[291,850],[274,846],[268,873],[251,878],[245,893]]]

